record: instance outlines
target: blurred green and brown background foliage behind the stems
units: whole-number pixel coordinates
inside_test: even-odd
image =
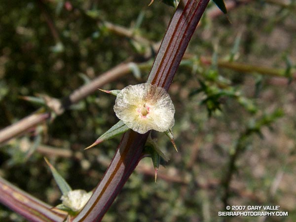
[[[23,96],[63,98],[119,63],[146,61],[143,53],[150,46],[114,34],[104,22],[159,42],[174,8],[161,1],[149,7],[148,3],[1,0],[0,127],[39,108]],[[176,108],[173,132],[179,152],[159,134],[157,144],[170,160],[166,168],[159,168],[157,183],[151,160],[143,159],[104,221],[257,220],[218,217],[224,211],[222,181],[238,143],[242,152],[229,181],[229,205],[280,205],[289,217],[270,217],[266,222],[296,220],[295,82],[222,69],[217,62],[282,68],[291,76],[296,61],[295,7],[285,7],[280,0],[250,1],[228,11],[231,23],[224,15],[211,18],[210,10],[215,8],[211,2],[189,44],[187,52],[193,56],[182,62],[169,90]],[[211,57],[211,65],[205,65],[200,56]],[[147,75],[147,69],[141,75],[128,74],[104,89],[144,82]],[[118,121],[113,104],[114,97],[98,91],[38,130],[9,141],[0,148],[0,176],[57,205],[61,193],[43,160],[47,156],[71,187],[93,189],[120,137],[87,151],[83,148]],[[63,148],[74,154],[48,155],[38,149],[42,146],[49,146],[53,153]],[[24,220],[1,205],[0,221]]]

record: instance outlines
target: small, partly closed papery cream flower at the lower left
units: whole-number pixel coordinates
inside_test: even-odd
[[[61,197],[61,200],[63,201],[62,204],[65,207],[70,208],[72,211],[77,212],[80,211],[86,202],[91,197],[92,192],[86,192],[83,189],[75,189],[69,191],[66,195],[63,195]]]

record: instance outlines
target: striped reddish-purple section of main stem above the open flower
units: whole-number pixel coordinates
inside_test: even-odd
[[[180,1],[161,42],[147,82],[168,90],[208,3],[209,0]]]

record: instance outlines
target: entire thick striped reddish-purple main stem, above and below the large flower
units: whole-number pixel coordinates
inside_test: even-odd
[[[168,90],[190,38],[209,0],[181,0],[169,24],[148,76],[148,82]],[[148,133],[123,135],[110,167],[93,196],[73,222],[100,222],[142,157]]]

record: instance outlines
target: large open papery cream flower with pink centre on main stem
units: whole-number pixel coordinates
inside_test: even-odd
[[[164,132],[175,123],[175,108],[169,94],[149,83],[122,89],[113,109],[125,125],[141,134],[151,129]]]

